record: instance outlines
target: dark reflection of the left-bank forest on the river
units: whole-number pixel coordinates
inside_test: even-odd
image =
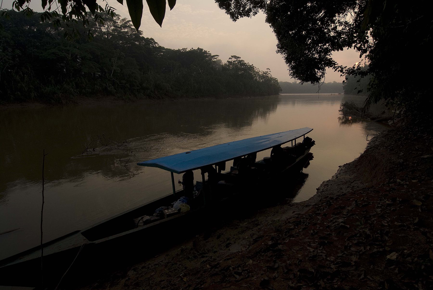
[[[169,150],[203,139],[217,128],[241,129],[276,110],[278,98],[205,99],[194,101],[139,102],[87,106],[8,108],[0,114],[0,192],[7,184],[23,179],[40,182],[42,149],[48,182],[81,179],[99,171],[106,178],[125,178],[137,161],[134,149]],[[128,150],[100,153],[92,158],[74,158],[97,134],[111,140],[128,140]],[[151,136],[152,144],[142,145]],[[132,139],[132,140],[131,140]],[[169,145],[169,146],[167,146]],[[129,149],[132,148],[132,152]],[[107,149],[107,148],[105,148]],[[134,168],[132,173],[141,168]],[[0,196],[1,199],[1,196]]]

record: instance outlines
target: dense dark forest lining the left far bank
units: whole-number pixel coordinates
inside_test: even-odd
[[[81,25],[42,23],[9,11],[0,19],[0,102],[69,102],[76,96],[196,98],[265,96],[278,80],[236,55],[223,63],[204,49],[167,49],[138,33],[119,15],[103,25],[89,19],[93,40]]]

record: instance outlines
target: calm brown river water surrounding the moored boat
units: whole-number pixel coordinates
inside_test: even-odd
[[[171,192],[170,173],[137,166],[139,161],[311,127],[314,130],[308,135],[316,140],[311,150],[314,160],[304,169],[304,185],[295,196],[287,196],[298,202],[313,196],[339,165],[358,157],[367,144],[366,134],[386,129],[376,122],[342,120],[338,110],[343,101],[362,104],[363,98],[282,94],[0,108],[0,233],[19,228],[0,235],[0,259],[39,243],[43,149],[48,153],[44,241]],[[258,157],[268,154],[269,150]],[[199,178],[200,173],[196,171],[195,176]]]

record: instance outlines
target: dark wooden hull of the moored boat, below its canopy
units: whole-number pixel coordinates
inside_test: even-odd
[[[251,199],[253,191],[260,194],[272,179],[281,179],[281,176],[287,177],[301,171],[310,160],[309,151],[310,148],[307,148],[294,163],[280,168],[278,173],[261,179],[261,184],[236,187],[237,202],[243,202],[245,198]],[[284,184],[287,188],[286,177],[282,186]],[[274,192],[277,191],[274,189]],[[175,196],[166,195],[82,231],[44,244],[44,286],[55,287],[71,265],[65,280],[77,276],[83,280],[97,272],[102,273],[107,269],[119,267],[120,264],[142,261],[186,237],[203,231],[208,228],[209,222],[220,216],[208,205],[138,228],[132,223],[133,218],[170,204],[181,196],[183,191],[179,190]],[[232,205],[237,206],[235,202],[230,202],[226,206]],[[0,261],[0,264],[3,265],[0,267],[0,285],[37,287],[41,283],[40,247]]]

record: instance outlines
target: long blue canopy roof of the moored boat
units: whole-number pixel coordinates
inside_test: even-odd
[[[253,137],[211,147],[160,157],[154,160],[137,163],[141,166],[158,167],[174,173],[183,173],[198,169],[206,165],[232,160],[250,153],[260,152],[291,140],[302,137],[311,132],[312,128],[305,127],[296,130]]]

